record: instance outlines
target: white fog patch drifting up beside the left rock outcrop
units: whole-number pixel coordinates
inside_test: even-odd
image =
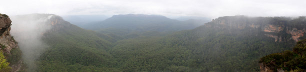
[[[52,17],[32,15],[10,16],[12,20],[10,33],[18,42],[22,51],[22,59],[28,67],[28,71],[36,68],[35,60],[38,59],[43,49],[47,47],[41,40],[42,33],[51,26],[46,21]]]

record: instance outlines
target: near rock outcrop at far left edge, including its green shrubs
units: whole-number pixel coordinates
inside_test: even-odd
[[[22,64],[21,51],[9,32],[10,25],[10,18],[0,14],[0,71],[18,71]]]

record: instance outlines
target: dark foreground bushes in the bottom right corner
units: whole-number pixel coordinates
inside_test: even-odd
[[[260,58],[264,65],[282,68],[286,71],[306,71],[306,39],[298,41],[293,51],[286,50],[280,53],[272,53]]]

